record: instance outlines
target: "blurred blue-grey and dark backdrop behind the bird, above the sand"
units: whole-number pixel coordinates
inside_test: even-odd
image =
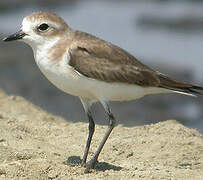
[[[23,17],[39,10],[59,14],[74,29],[126,49],[155,70],[203,86],[202,0],[1,0],[0,37],[18,31]],[[0,88],[67,121],[87,122],[79,99],[49,83],[24,43],[0,41]],[[176,119],[203,132],[202,97],[162,94],[111,104],[124,126]],[[100,105],[93,114],[107,124]]]

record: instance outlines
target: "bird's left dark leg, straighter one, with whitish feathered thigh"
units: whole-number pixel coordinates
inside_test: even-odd
[[[88,139],[87,139],[86,146],[85,146],[85,152],[84,152],[82,162],[81,162],[82,165],[85,165],[86,160],[87,160],[87,155],[89,152],[89,148],[90,148],[90,144],[92,141],[92,136],[94,134],[95,123],[94,123],[94,120],[93,120],[91,112],[90,112],[91,103],[87,99],[81,99],[81,102],[83,104],[85,113],[87,114],[87,117],[89,120],[89,135],[88,135]]]

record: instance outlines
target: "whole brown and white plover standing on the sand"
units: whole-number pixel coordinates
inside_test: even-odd
[[[3,41],[23,41],[31,46],[35,62],[57,88],[80,98],[89,121],[89,134],[81,165],[85,173],[98,162],[99,154],[116,126],[110,101],[131,101],[145,95],[180,93],[201,95],[203,87],[170,78],[138,61],[110,42],[72,29],[57,14],[34,12],[22,21],[20,31]],[[95,122],[91,106],[100,102],[108,115],[108,128],[87,162]]]

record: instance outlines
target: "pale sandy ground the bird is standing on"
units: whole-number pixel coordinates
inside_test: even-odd
[[[87,123],[68,123],[0,91],[0,124],[0,180],[203,179],[203,137],[175,120],[118,125],[89,174],[68,165],[83,154]],[[97,125],[90,156],[105,130]]]

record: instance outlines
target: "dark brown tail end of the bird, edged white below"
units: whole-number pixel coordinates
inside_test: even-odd
[[[160,85],[159,87],[170,89],[177,93],[183,93],[186,95],[203,95],[203,87],[196,86],[189,83],[183,83],[174,79],[171,79],[163,74],[159,74]],[[202,91],[202,92],[201,92]]]

